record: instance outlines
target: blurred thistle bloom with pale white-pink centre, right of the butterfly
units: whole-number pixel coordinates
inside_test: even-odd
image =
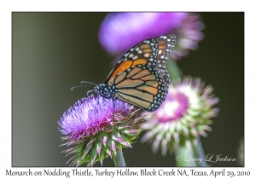
[[[154,153],[161,147],[162,154],[177,147],[193,147],[197,136],[207,136],[210,118],[218,114],[218,103],[212,87],[205,87],[200,78],[183,78],[182,82],[171,84],[166,101],[154,113],[145,117],[143,130],[148,132],[142,141],[153,141]]]

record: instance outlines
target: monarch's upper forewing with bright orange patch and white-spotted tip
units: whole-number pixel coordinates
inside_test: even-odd
[[[173,34],[147,39],[138,43],[122,56],[109,73],[106,81],[119,74],[119,72],[124,72],[131,66],[148,64],[149,66],[154,66],[160,73],[167,90],[170,84],[170,78],[166,70],[166,61],[171,55],[175,43],[176,38]]]

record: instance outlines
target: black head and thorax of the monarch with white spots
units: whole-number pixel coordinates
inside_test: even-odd
[[[113,86],[111,87],[108,84],[99,84],[94,88],[94,90],[97,94],[102,95],[102,97],[106,99],[115,99]]]

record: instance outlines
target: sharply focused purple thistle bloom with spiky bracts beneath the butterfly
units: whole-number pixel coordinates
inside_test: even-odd
[[[91,95],[76,102],[58,121],[62,145],[76,145],[64,151],[72,154],[71,165],[94,165],[106,157],[116,155],[122,147],[131,147],[131,141],[141,132],[142,118],[138,110],[122,101],[95,98]]]

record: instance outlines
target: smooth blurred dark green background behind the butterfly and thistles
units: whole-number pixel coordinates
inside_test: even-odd
[[[113,57],[98,41],[106,14],[12,14],[13,166],[68,166],[57,121],[92,90],[71,87],[82,80],[100,84],[112,68]],[[220,99],[212,131],[201,138],[205,153],[237,160],[244,136],[244,13],[200,14],[205,38],[177,65],[183,74],[211,84]],[[127,166],[175,166],[174,155],[153,154],[148,143],[137,141],[123,152]],[[113,160],[103,160],[103,166],[113,166]]]

